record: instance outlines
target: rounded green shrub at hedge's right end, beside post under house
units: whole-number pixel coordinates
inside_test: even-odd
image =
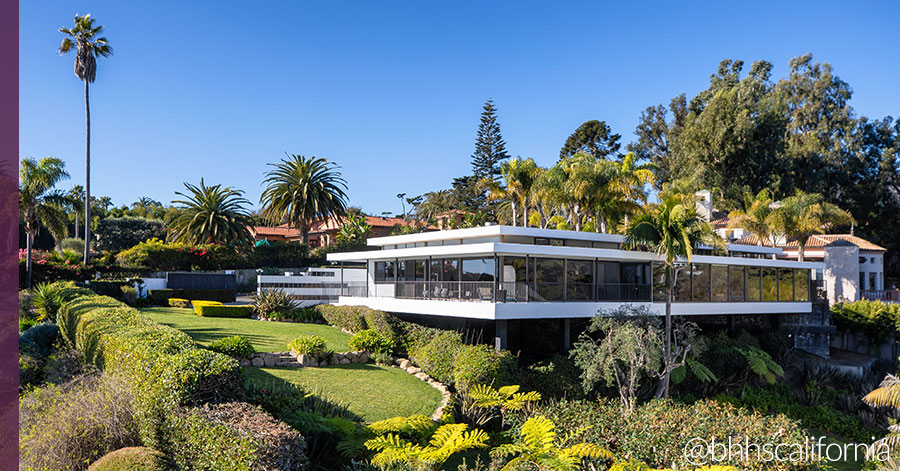
[[[476,384],[500,387],[518,380],[516,358],[508,351],[498,352],[488,345],[464,345],[453,365],[453,384],[460,391]]]

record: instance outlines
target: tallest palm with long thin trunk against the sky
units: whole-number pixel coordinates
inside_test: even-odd
[[[75,50],[75,76],[84,82],[84,263],[91,258],[91,101],[89,85],[97,78],[97,57],[109,57],[112,48],[109,41],[100,36],[103,26],[94,26],[90,13],[84,16],[75,15],[75,26],[60,28],[66,35],[59,46],[59,53],[66,54]]]

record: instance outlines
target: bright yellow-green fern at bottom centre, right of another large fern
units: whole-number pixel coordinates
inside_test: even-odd
[[[494,448],[491,455],[496,459],[515,456],[500,471],[519,469],[529,464],[542,470],[575,471],[581,468],[584,458],[614,458],[611,451],[591,443],[559,448],[556,445],[556,425],[544,416],[526,420],[516,441]]]

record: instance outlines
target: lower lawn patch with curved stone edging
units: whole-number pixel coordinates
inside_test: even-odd
[[[414,414],[431,416],[441,404],[437,389],[399,368],[387,366],[357,363],[298,369],[245,367],[244,373],[250,378],[294,383],[342,403],[369,422]]]

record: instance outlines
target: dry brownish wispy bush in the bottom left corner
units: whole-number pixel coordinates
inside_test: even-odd
[[[104,454],[138,444],[133,395],[107,375],[83,376],[22,397],[24,469],[84,470]]]

